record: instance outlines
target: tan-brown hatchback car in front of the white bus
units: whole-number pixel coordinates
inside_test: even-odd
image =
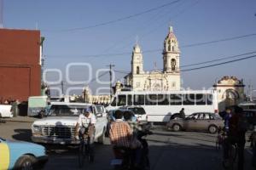
[[[187,116],[185,119],[172,119],[167,122],[166,127],[173,131],[189,130],[216,133],[218,127],[224,127],[224,121],[215,113],[198,112]]]

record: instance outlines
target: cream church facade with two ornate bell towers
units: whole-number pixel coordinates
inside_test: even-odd
[[[143,51],[136,44],[131,55],[131,73],[125,77],[125,85],[133,91],[180,90],[180,50],[172,26],[165,38],[162,55],[162,71],[144,71]]]

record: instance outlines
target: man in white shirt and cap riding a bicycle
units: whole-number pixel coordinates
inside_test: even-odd
[[[75,138],[88,136],[88,145],[90,146],[91,159],[93,161],[93,143],[95,134],[96,116],[90,111],[90,108],[84,109],[84,112],[79,115],[78,122],[76,124]]]

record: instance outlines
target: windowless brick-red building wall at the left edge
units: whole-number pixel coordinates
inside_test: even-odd
[[[0,29],[0,101],[40,95],[40,31]]]

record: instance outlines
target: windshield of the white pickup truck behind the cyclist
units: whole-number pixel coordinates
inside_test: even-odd
[[[84,105],[51,105],[49,116],[79,116],[84,109],[89,106]]]

